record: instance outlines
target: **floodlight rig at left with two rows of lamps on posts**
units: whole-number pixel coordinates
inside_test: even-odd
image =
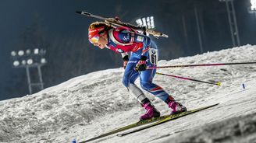
[[[44,58],[45,54],[46,51],[39,48],[35,48],[33,51],[31,51],[30,49],[27,49],[26,51],[11,51],[13,68],[26,68],[27,83],[30,94],[32,94],[32,87],[34,86],[37,86],[40,89],[44,89],[44,83],[41,75],[41,66],[47,63],[46,59]],[[37,68],[39,82],[31,83],[30,68]]]

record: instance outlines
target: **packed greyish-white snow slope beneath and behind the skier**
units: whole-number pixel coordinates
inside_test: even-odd
[[[247,61],[256,61],[256,46],[159,61],[159,66]],[[144,131],[124,137],[112,135],[96,142],[256,141],[256,65],[169,68],[158,72],[222,82],[216,86],[162,75],[155,75],[154,80],[189,110],[220,104]],[[129,96],[122,76],[123,68],[92,72],[34,95],[1,101],[0,142],[84,141],[136,122],[144,109]],[[169,113],[160,99],[145,94],[162,114]]]

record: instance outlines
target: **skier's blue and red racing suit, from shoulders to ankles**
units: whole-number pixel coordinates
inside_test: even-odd
[[[130,52],[130,58],[126,65],[123,75],[123,85],[128,88],[130,93],[141,101],[145,99],[144,93],[134,85],[135,80],[140,76],[140,86],[142,89],[151,92],[151,94],[165,101],[169,94],[159,85],[153,83],[156,69],[148,69],[144,72],[137,72],[135,67],[140,57],[147,56],[147,66],[156,66],[157,61],[150,58],[151,51],[157,52],[156,44],[147,36],[126,28],[118,27],[108,31],[108,49],[116,53],[127,55]],[[150,60],[151,59],[151,60]]]

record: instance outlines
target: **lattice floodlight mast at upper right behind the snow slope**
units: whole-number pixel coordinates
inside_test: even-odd
[[[226,11],[229,18],[229,28],[233,47],[240,46],[240,37],[236,23],[236,10],[234,8],[233,0],[219,0],[219,2],[226,2]]]

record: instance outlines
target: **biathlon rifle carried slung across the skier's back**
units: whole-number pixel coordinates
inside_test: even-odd
[[[149,33],[151,35],[153,35],[154,37],[165,37],[165,38],[168,38],[168,35],[164,34],[164,33],[159,33],[159,32],[156,32],[155,30],[149,30],[146,26],[134,26],[133,24],[130,24],[130,23],[123,23],[122,21],[119,20],[118,17],[116,18],[105,18],[105,17],[102,17],[102,16],[96,16],[96,15],[93,15],[89,12],[80,12],[80,11],[76,11],[76,13],[80,14],[80,15],[83,15],[83,16],[89,16],[89,17],[94,17],[96,19],[101,19],[101,20],[104,20],[105,23],[108,23],[109,25],[113,26],[113,27],[116,27],[116,26],[126,26],[126,27],[129,27],[133,30],[137,30],[138,32],[140,33]]]

